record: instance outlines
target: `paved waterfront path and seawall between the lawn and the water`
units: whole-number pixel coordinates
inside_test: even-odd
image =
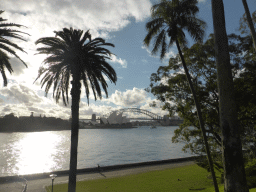
[[[170,159],[163,161],[152,161],[143,163],[133,163],[125,165],[115,165],[106,167],[95,167],[88,169],[80,169],[77,174],[77,181],[120,177],[130,174],[138,174],[148,171],[172,169],[185,165],[194,164],[195,157]],[[68,171],[54,172],[58,175],[54,180],[54,184],[67,183]],[[51,185],[50,173],[26,175],[27,180],[26,192],[45,192],[44,187]],[[1,192],[21,192],[25,188],[25,180],[18,177],[2,177],[0,178]]]

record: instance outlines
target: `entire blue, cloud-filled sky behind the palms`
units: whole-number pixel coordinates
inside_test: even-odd
[[[239,20],[244,14],[242,0],[223,0],[227,34],[239,34]],[[108,98],[94,100],[90,94],[89,105],[82,88],[80,101],[80,118],[104,115],[122,108],[140,108],[158,115],[166,115],[161,103],[144,89],[149,87],[150,75],[159,66],[168,65],[168,59],[177,54],[172,46],[163,61],[157,54],[150,54],[152,47],[146,48],[143,40],[147,35],[145,28],[150,19],[150,8],[158,0],[0,0],[1,14],[6,22],[26,26],[18,30],[30,34],[24,35],[26,42],[14,40],[26,52],[17,54],[26,62],[26,68],[18,59],[11,57],[14,73],[7,73],[8,85],[3,86],[0,76],[0,116],[14,113],[16,116],[45,115],[67,119],[71,115],[71,105],[65,106],[61,100],[56,103],[52,91],[45,96],[40,79],[36,82],[38,69],[46,55],[36,55],[35,41],[41,37],[54,37],[54,31],[73,27],[84,32],[90,30],[92,38],[101,37],[113,43],[108,47],[114,54],[109,64],[117,73],[116,84],[108,82]],[[250,12],[255,11],[256,0],[247,0]],[[198,18],[207,23],[204,40],[213,33],[211,0],[199,0]],[[14,29],[14,28],[13,28]],[[193,45],[191,38],[189,46]],[[70,98],[71,99],[71,98]],[[149,104],[156,101],[158,107]],[[127,114],[129,116],[129,114]],[[131,116],[131,114],[130,114]]]

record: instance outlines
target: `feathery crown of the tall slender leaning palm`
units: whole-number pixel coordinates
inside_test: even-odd
[[[161,50],[160,58],[163,59],[176,40],[186,47],[185,30],[192,39],[202,41],[206,23],[196,17],[199,12],[197,3],[197,0],[161,0],[152,6],[144,44],[148,47],[153,40],[153,55]]]

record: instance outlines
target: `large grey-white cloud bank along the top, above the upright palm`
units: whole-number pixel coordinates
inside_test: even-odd
[[[93,36],[117,31],[150,14],[150,0],[8,0],[2,4],[5,17],[29,27],[31,34],[49,35],[54,30],[74,27],[91,29]],[[101,32],[99,32],[101,31]]]

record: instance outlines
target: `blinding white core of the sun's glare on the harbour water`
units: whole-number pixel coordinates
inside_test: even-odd
[[[57,146],[61,142],[61,136],[54,132],[33,132],[23,135],[14,143],[18,149],[16,174],[31,174],[50,172],[58,168],[55,161]]]

